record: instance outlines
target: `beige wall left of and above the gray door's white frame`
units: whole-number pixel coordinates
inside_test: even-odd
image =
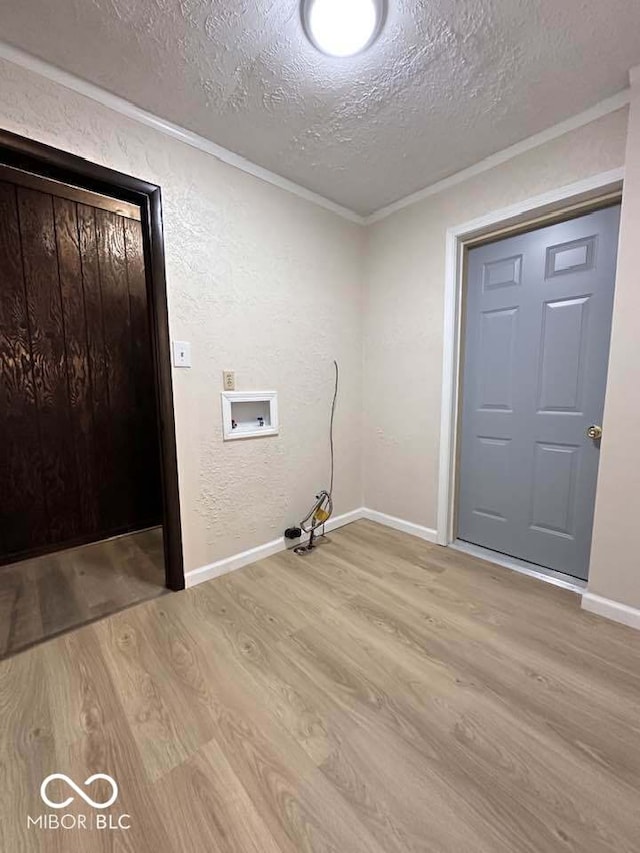
[[[626,126],[619,110],[368,229],[366,506],[436,526],[447,229],[621,166]]]

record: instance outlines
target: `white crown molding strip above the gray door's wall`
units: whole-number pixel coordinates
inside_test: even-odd
[[[640,70],[640,68],[634,69],[634,71],[638,70]],[[380,208],[380,210],[377,210],[370,216],[366,216],[364,223],[365,225],[373,225],[374,222],[380,222],[382,219],[386,219],[387,216],[391,216],[391,214],[396,213],[399,210],[403,210],[405,207],[418,204],[418,202],[429,198],[429,196],[437,195],[437,193],[441,193],[444,190],[448,190],[451,187],[462,184],[464,181],[468,181],[476,175],[488,172],[490,169],[494,169],[502,163],[513,160],[514,157],[518,157],[520,154],[525,154],[527,151],[538,148],[546,142],[558,139],[566,133],[570,133],[572,130],[577,130],[578,128],[584,127],[592,121],[596,121],[609,113],[622,109],[629,104],[630,99],[631,90],[623,89],[622,92],[618,92],[617,95],[612,95],[610,98],[600,101],[600,103],[590,107],[588,110],[584,110],[584,112],[565,119],[565,121],[561,121],[559,124],[555,124],[553,127],[547,128],[547,130],[536,133],[534,136],[523,139],[522,142],[517,142],[515,145],[509,146],[509,148],[504,148],[496,154],[491,154],[484,160],[480,160],[479,163],[475,163],[467,169],[462,169],[462,171],[456,172],[448,178],[443,178],[443,180],[437,181],[435,184],[431,184],[423,190],[418,190],[416,193],[412,193],[398,201],[394,201],[392,204],[388,204],[385,207]]]

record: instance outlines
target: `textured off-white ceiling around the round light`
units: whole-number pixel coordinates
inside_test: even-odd
[[[9,0],[5,41],[362,214],[627,85],[640,0],[390,0],[336,60],[296,0]]]

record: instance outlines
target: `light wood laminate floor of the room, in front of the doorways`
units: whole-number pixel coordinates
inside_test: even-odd
[[[367,521],[0,663],[0,719],[10,853],[640,849],[640,635]],[[130,828],[29,828],[56,772]]]

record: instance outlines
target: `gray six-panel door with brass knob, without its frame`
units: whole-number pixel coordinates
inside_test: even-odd
[[[585,579],[619,220],[618,205],[467,257],[458,538]]]

